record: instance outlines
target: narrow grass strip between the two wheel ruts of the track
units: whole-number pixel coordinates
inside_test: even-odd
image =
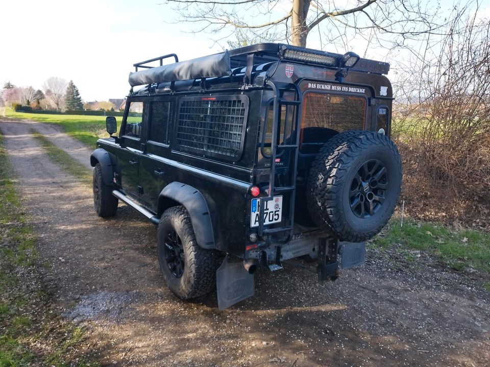
[[[80,179],[88,186],[92,185],[92,173],[63,149],[58,148],[44,135],[33,132],[32,135],[43,147],[50,159],[67,173]]]

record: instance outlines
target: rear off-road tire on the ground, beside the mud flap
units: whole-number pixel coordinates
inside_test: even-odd
[[[180,277],[171,273],[165,258],[165,241],[174,230],[182,244],[184,270]],[[199,247],[189,213],[184,206],[168,208],[161,216],[157,231],[160,269],[170,290],[181,299],[203,296],[216,286],[218,251]]]

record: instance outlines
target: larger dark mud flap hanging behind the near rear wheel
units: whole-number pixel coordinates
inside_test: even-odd
[[[243,267],[243,259],[226,255],[216,270],[216,289],[220,310],[254,295],[254,276]]]

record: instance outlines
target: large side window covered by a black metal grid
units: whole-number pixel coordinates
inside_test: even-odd
[[[244,95],[182,98],[176,143],[182,150],[234,161],[243,151],[248,110]]]

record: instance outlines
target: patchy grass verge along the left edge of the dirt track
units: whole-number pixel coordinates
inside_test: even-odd
[[[56,316],[39,272],[36,236],[0,135],[0,366],[97,366],[83,330]]]

